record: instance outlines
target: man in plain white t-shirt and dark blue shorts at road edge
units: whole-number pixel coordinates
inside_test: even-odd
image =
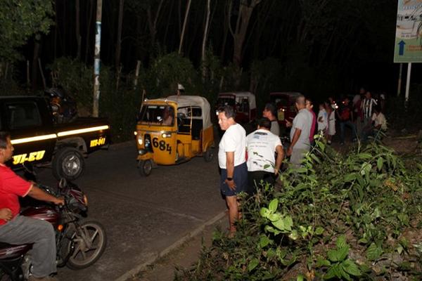
[[[235,222],[239,219],[237,194],[248,188],[248,168],[245,162],[246,132],[234,121],[235,116],[230,105],[218,110],[218,124],[222,131],[225,131],[218,150],[220,188],[229,208],[230,236],[236,232]]]

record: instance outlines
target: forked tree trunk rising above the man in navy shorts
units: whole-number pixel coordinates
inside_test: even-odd
[[[248,31],[250,16],[252,15],[255,6],[260,4],[260,1],[261,0],[251,0],[250,5],[248,5],[248,1],[241,0],[234,32],[231,29],[231,25],[229,25],[231,35],[234,39],[233,62],[237,67],[241,67],[243,42],[245,41],[246,32]]]

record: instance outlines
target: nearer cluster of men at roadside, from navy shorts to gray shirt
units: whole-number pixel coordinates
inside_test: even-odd
[[[298,96],[295,106],[298,114],[289,124],[292,129],[286,155],[290,156],[290,164],[300,166],[313,141],[311,131],[312,126],[315,128],[316,117],[307,109],[305,96]],[[236,123],[235,115],[233,107],[229,105],[218,110],[219,126],[225,131],[218,152],[220,189],[229,208],[230,235],[236,232],[235,222],[241,216],[238,211],[238,193],[252,194],[262,181],[274,183],[284,159],[274,105],[268,103],[265,106],[257,130],[248,136],[243,126]]]

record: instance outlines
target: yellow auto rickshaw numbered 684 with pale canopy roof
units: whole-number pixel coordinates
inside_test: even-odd
[[[200,96],[145,100],[136,124],[138,167],[149,176],[153,167],[174,165],[203,156],[214,157],[210,103]]]

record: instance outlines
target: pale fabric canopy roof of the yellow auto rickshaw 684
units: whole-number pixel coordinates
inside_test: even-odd
[[[211,123],[211,107],[210,103],[208,103],[208,100],[201,96],[168,96],[167,98],[158,98],[155,100],[148,100],[146,103],[151,101],[162,101],[162,102],[174,102],[177,103],[177,108],[180,107],[200,107],[201,108],[201,114],[202,116],[196,116],[193,118],[198,118],[203,120],[203,128],[207,129],[210,126],[212,126]]]

